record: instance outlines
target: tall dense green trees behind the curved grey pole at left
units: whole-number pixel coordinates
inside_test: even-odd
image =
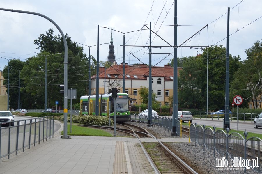
[[[79,47],[71,38],[65,35],[68,45],[68,89],[77,89],[77,98],[88,93],[88,65],[89,61],[83,53],[83,47]],[[63,39],[54,35],[54,31],[49,29],[46,34],[41,34],[38,40],[34,40],[40,49],[40,54],[28,58],[21,71],[21,77],[26,86],[21,90],[29,96],[26,103],[29,109],[44,108],[45,103],[45,55],[47,55],[47,107],[55,105],[59,101],[63,106],[63,95],[59,92],[59,85],[64,84],[64,44]],[[55,53],[54,56],[48,56]],[[43,56],[44,55],[44,56]],[[93,56],[91,63],[93,63]],[[94,73],[94,72],[92,72]],[[70,102],[70,101],[68,101]],[[79,102],[72,100],[73,104]]]

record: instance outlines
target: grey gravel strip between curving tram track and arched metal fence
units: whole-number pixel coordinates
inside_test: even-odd
[[[160,138],[180,138],[180,136],[172,136],[171,132],[161,129],[157,126],[148,127],[147,124],[128,122],[128,124],[135,124],[147,129],[151,134],[153,134],[158,139]],[[189,138],[187,133],[182,132],[182,138]],[[213,150],[205,149],[203,151],[203,146],[195,145],[194,143],[165,143],[168,145],[169,149],[172,150],[178,157],[185,161],[191,168],[193,168],[198,173],[244,173],[244,167],[216,167],[217,160],[223,159],[226,156],[219,156],[215,152],[215,157],[213,156]],[[230,165],[230,158],[228,157],[228,165]],[[246,173],[257,173],[252,169],[246,169]]]

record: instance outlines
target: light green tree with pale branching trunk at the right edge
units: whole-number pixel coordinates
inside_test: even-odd
[[[252,96],[253,106],[258,109],[262,100],[262,42],[256,41],[251,48],[245,50],[245,53],[247,59],[234,74],[233,86],[241,93],[247,94],[243,96],[244,98]]]

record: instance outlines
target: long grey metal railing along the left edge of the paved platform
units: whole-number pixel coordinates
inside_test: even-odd
[[[9,121],[9,126],[3,127],[0,122],[0,160],[3,157],[23,151],[31,145],[40,144],[51,136],[54,138],[54,116],[46,116],[19,121]],[[14,126],[11,124],[14,123]]]

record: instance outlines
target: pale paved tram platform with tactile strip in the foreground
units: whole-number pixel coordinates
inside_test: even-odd
[[[70,136],[31,146],[18,155],[1,158],[0,174],[151,174],[155,173],[136,138]],[[144,138],[142,142],[154,142]],[[188,142],[188,138],[167,138],[162,142]]]

